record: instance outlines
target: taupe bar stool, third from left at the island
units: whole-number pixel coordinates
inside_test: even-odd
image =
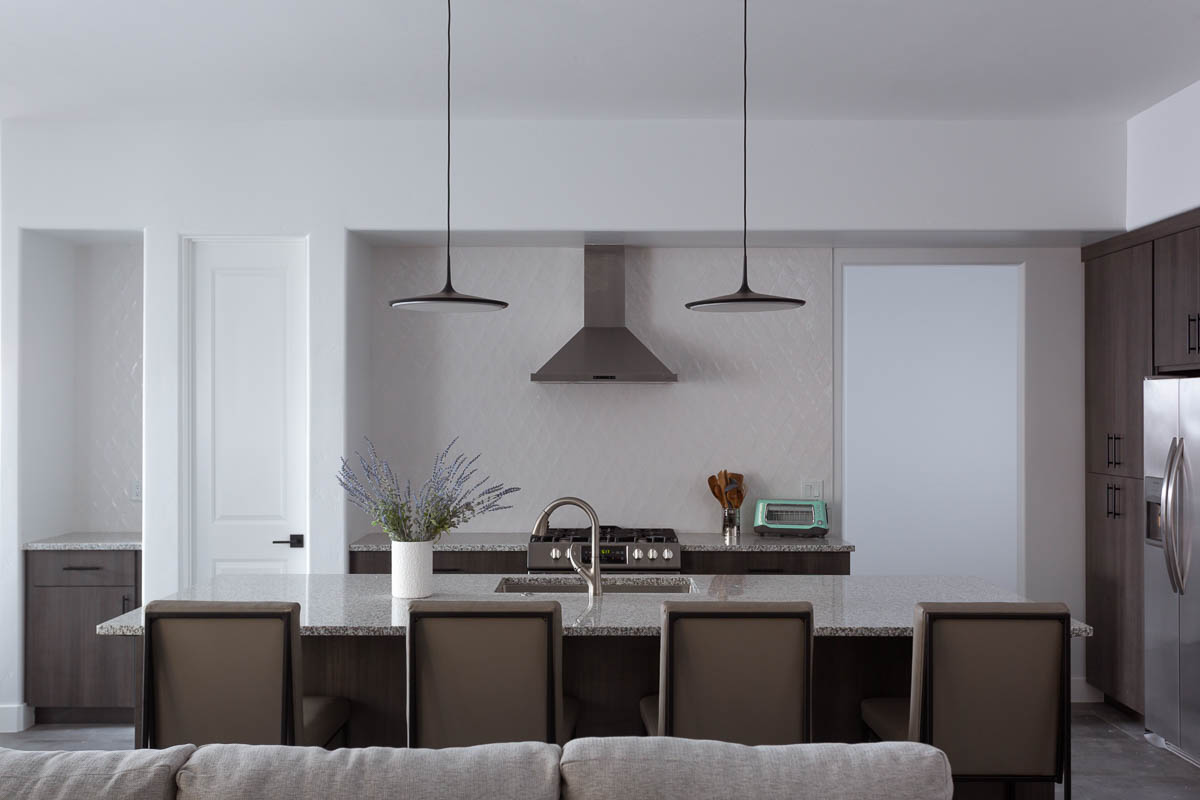
[[[806,742],[811,696],[811,603],[662,603],[659,693],[641,702],[648,734]]]

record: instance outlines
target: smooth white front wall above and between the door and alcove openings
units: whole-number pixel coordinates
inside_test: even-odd
[[[180,581],[180,236],[310,236],[311,529],[316,572],[344,567],[347,229],[437,230],[440,122],[31,122],[0,128],[0,639],[19,638],[16,470],[22,228],[145,231],[144,551],[149,599]],[[734,230],[736,121],[463,121],[458,229]],[[1124,126],[1096,121],[755,122],[756,230],[1110,230],[1124,218]],[[988,191],[980,191],[986,187]],[[734,237],[731,237],[731,243]],[[702,293],[698,293],[702,294]],[[19,703],[0,646],[0,705]]]

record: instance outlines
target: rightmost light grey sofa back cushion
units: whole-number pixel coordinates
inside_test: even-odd
[[[563,748],[565,800],[756,798],[950,800],[942,751],[914,742],[748,747],[666,736],[576,739]]]

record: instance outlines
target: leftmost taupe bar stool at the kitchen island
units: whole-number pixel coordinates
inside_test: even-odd
[[[304,697],[300,604],[155,601],[146,606],[142,747],[328,747],[350,704]]]

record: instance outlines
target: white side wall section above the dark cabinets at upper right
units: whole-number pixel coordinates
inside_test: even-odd
[[[1200,82],[1127,124],[1126,227],[1200,206]]]

